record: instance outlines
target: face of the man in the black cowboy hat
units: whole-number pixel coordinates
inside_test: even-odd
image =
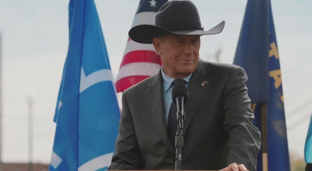
[[[195,71],[199,59],[199,36],[161,35],[153,39],[153,45],[168,76],[183,78]]]

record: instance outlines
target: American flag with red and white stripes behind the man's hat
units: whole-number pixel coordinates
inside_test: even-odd
[[[166,2],[168,0],[141,0],[132,27],[141,24],[155,25],[156,12]],[[123,92],[132,85],[155,75],[161,65],[160,56],[156,54],[152,44],[137,43],[128,38],[117,76],[117,92]]]

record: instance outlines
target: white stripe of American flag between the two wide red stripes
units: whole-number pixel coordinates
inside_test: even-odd
[[[154,76],[159,71],[160,65],[150,62],[133,62],[121,66],[117,81],[128,76]]]

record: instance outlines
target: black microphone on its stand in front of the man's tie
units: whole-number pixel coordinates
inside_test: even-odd
[[[177,104],[177,120],[178,128],[175,136],[175,145],[174,145],[174,161],[175,161],[175,170],[182,169],[182,148],[184,144],[183,137],[183,125],[185,119],[184,103],[188,101],[188,89],[186,86],[179,84],[173,87],[172,89],[172,100]]]

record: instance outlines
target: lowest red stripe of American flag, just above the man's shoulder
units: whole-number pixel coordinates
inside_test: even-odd
[[[116,89],[117,92],[123,92],[127,88],[131,87],[132,85],[143,81],[144,79],[148,78],[149,76],[128,76],[125,78],[120,79],[116,82]]]

